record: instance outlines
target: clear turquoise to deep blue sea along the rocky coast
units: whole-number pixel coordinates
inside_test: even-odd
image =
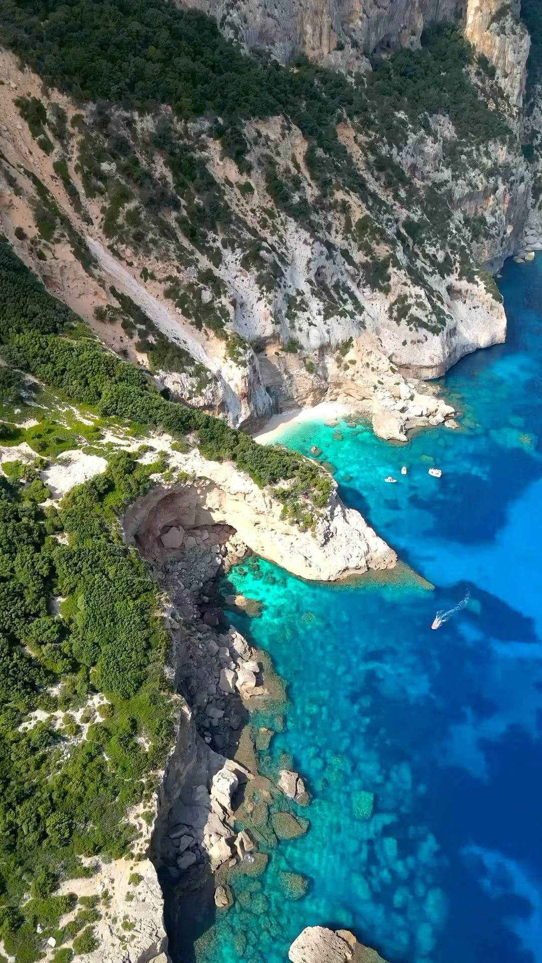
[[[311,924],[351,928],[392,961],[542,963],[542,257],[507,264],[501,291],[506,346],[443,381],[462,429],[398,447],[345,425],[341,440],[285,429],[290,447],[322,449],[343,500],[435,588],[306,584],[263,561],[232,573],[264,606],[237,623],[290,700],[261,765],[291,754],[311,826],[237,884],[251,893],[219,916],[204,963],[283,963]],[[307,896],[285,898],[285,869]]]

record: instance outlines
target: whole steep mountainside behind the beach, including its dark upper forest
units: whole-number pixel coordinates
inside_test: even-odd
[[[397,397],[400,371],[503,340],[484,266],[528,216],[521,83],[501,83],[528,51],[502,65],[491,18],[468,21],[474,46],[441,26],[346,76],[244,55],[158,0],[8,6],[5,42],[35,72],[1,57],[4,229],[173,397],[247,424],[351,385]]]

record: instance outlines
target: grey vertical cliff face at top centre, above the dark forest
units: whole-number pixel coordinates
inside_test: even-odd
[[[281,61],[303,50],[339,69],[367,69],[367,58],[416,46],[424,26],[458,19],[465,0],[182,0],[216,16],[222,32],[247,47],[265,47]]]

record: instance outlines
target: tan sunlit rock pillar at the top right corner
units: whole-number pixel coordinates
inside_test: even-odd
[[[496,79],[514,107],[521,107],[530,38],[520,20],[521,0],[469,0],[465,35],[496,69]]]

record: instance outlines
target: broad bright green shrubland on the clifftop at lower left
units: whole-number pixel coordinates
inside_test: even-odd
[[[160,466],[115,455],[60,511],[29,501],[22,485],[32,468],[3,467],[14,474],[0,481],[0,934],[17,963],[32,963],[48,936],[61,945],[95,921],[80,911],[61,932],[76,899],[50,894],[62,875],[92,872],[81,856],[129,851],[137,833],[126,808],[150,798],[151,773],[171,744],[156,589],[114,534],[116,512]],[[68,544],[56,540],[60,532]],[[66,597],[60,617],[50,614],[51,594]],[[82,740],[72,714],[95,692],[109,705],[85,710]],[[29,716],[37,709],[42,721]]]

